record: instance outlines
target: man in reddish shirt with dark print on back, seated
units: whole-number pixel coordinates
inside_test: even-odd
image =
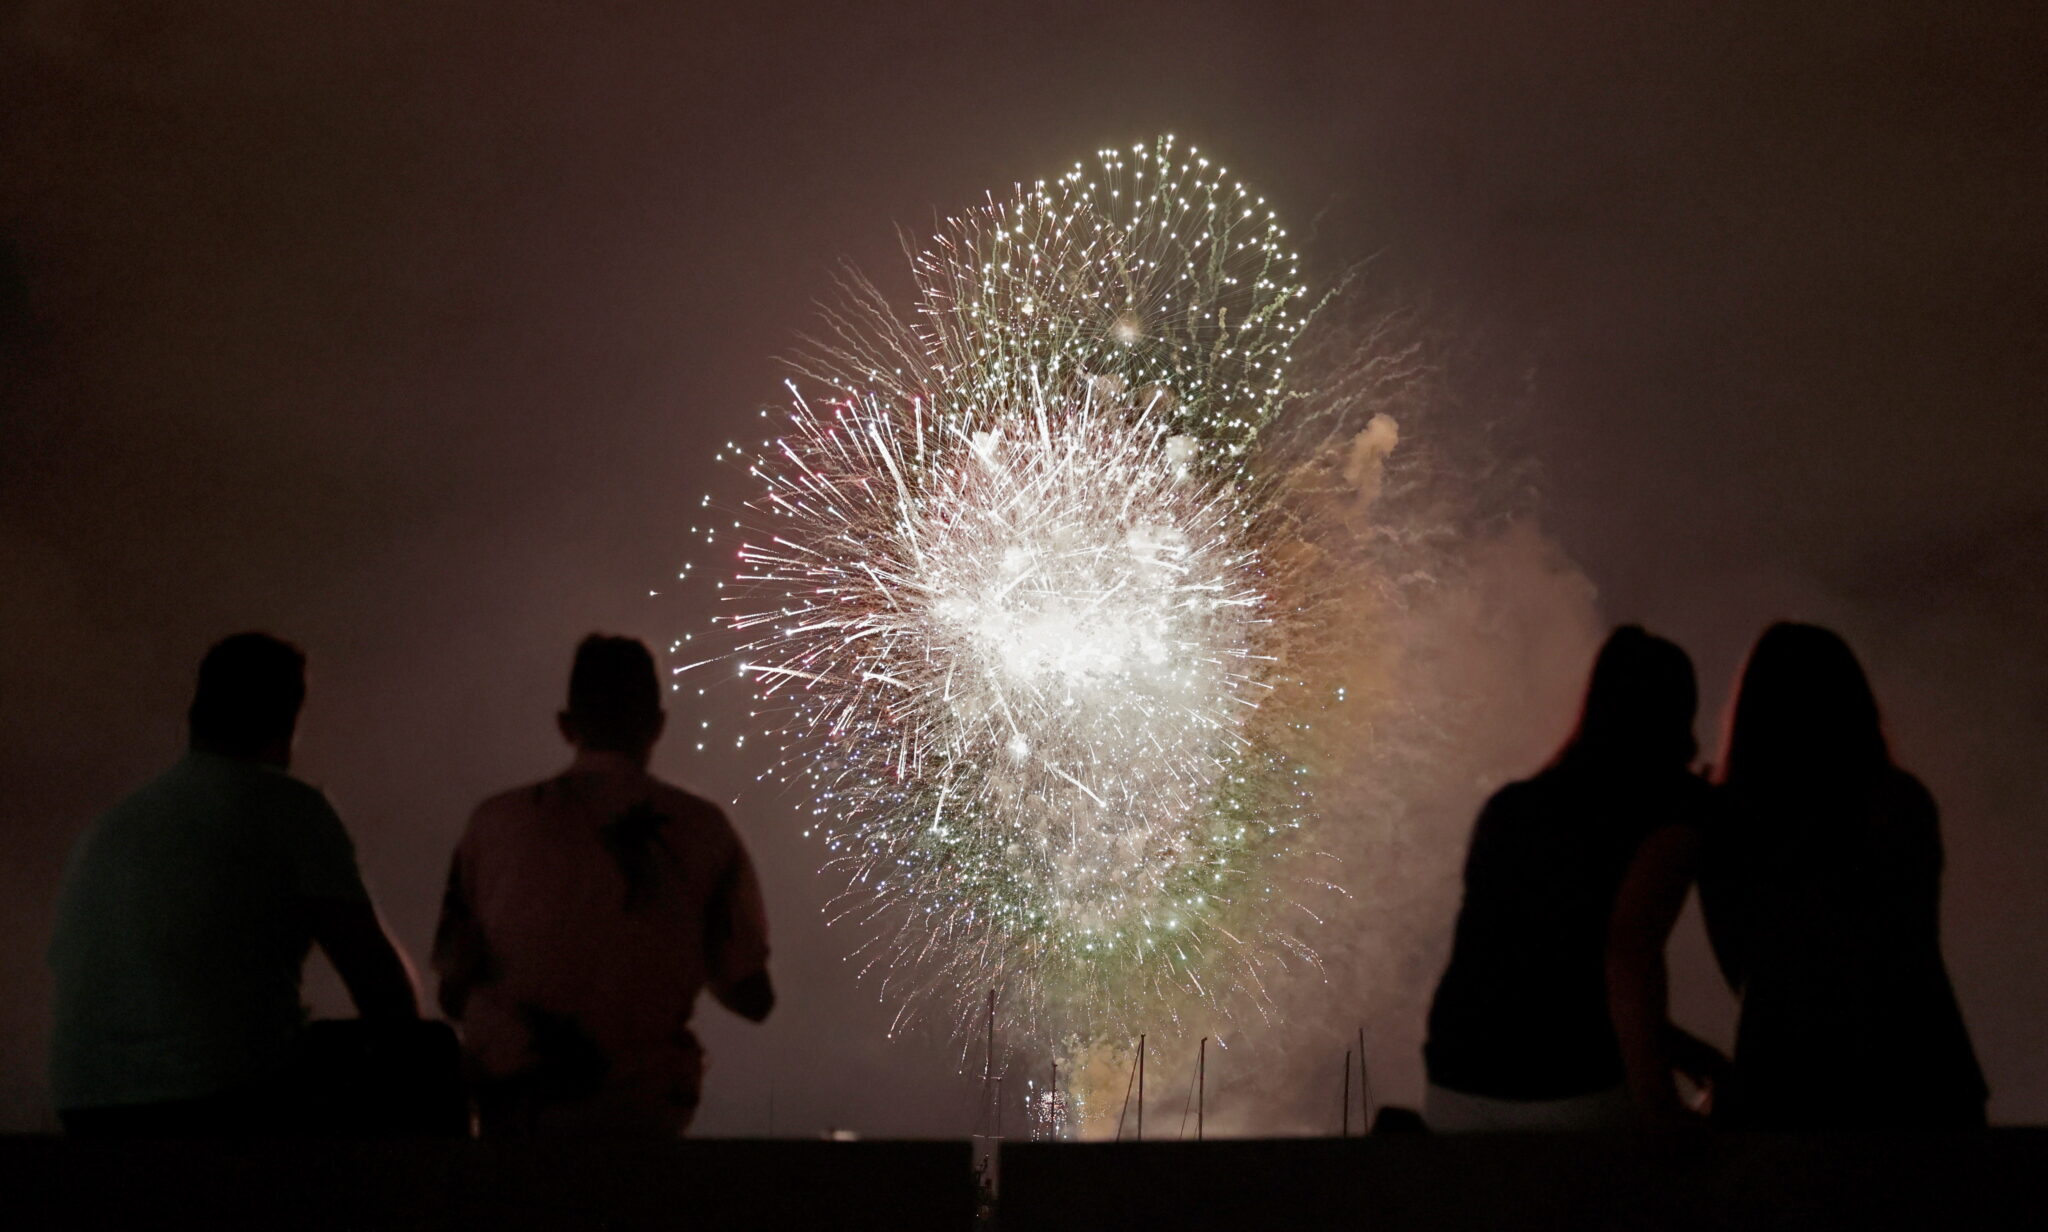
[[[485,800],[455,849],[434,968],[487,1138],[674,1138],[702,1076],[696,993],[774,1009],[739,835],[647,774],[664,720],[647,647],[584,639],[557,718],[575,761]]]

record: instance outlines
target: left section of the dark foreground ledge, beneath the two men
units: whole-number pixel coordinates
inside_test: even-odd
[[[965,1232],[967,1142],[0,1138],[0,1228]]]

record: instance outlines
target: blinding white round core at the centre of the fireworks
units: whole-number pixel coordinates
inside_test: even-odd
[[[905,526],[905,546],[930,544],[907,616],[944,698],[934,743],[1001,753],[1001,790],[1042,817],[1110,812],[1083,829],[1206,804],[1255,667],[1260,596],[1229,487],[1120,420],[1083,407],[1044,436],[985,432]]]

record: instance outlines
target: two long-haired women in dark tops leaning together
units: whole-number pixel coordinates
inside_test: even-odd
[[[1935,806],[1849,647],[1763,632],[1712,786],[1690,769],[1696,710],[1686,653],[1618,628],[1571,739],[1479,815],[1430,1009],[1430,1126],[1686,1124],[1675,1074],[1722,1126],[1982,1126]],[[1733,1064],[1669,1021],[1663,952],[1694,884],[1741,999]]]

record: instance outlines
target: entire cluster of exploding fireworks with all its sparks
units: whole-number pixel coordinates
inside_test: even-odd
[[[1317,647],[1372,600],[1319,542],[1393,422],[1298,409],[1286,231],[1174,139],[909,256],[911,311],[848,274],[786,428],[731,450],[754,495],[702,663],[754,690],[899,1023],[965,1038],[987,988],[1044,1046],[1270,1013],[1315,964],[1317,718],[1358,690]]]

